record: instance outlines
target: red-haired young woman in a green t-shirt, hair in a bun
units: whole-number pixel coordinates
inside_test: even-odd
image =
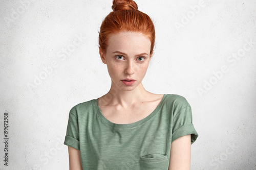
[[[70,169],[190,169],[198,137],[191,108],[176,94],[154,94],[142,79],[153,55],[155,29],[134,1],[113,1],[99,32],[99,54],[111,88],[70,110]]]

